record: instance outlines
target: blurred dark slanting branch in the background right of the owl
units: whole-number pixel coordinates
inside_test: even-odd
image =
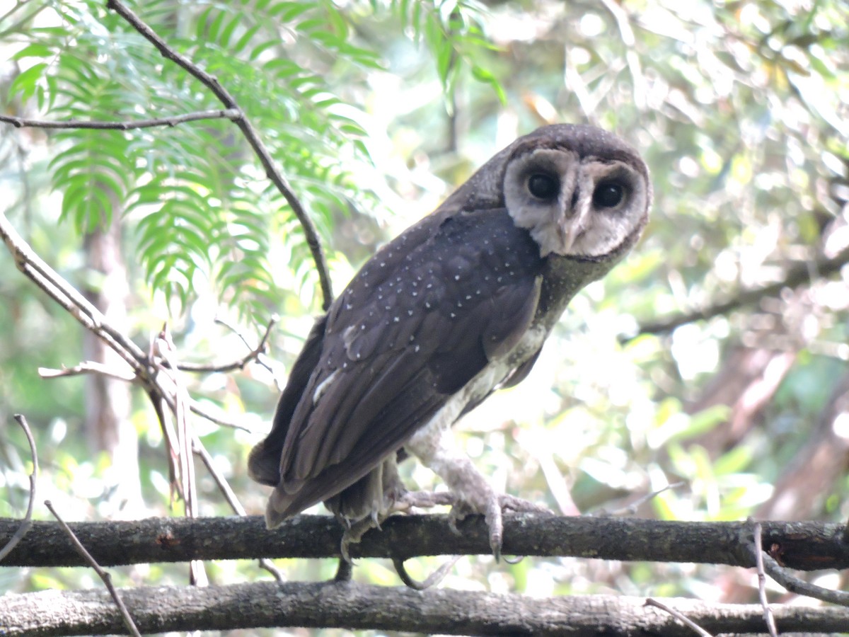
[[[762,298],[777,296],[784,288],[794,288],[812,279],[827,277],[835,272],[839,272],[846,263],[849,263],[849,249],[842,251],[832,258],[823,256],[814,262],[797,262],[787,270],[784,279],[780,281],[765,285],[756,290],[742,290],[737,296],[728,299],[728,301],[715,303],[694,312],[676,314],[668,318],[661,318],[659,321],[642,324],[638,327],[636,334],[626,336],[623,341],[630,341],[641,334],[666,334],[666,332],[671,332],[684,324],[727,314],[738,307],[745,307],[759,302]]]

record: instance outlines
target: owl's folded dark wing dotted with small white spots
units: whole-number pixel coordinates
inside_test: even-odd
[[[281,517],[365,476],[518,344],[542,264],[500,208],[426,217],[369,260],[313,330],[273,431],[251,454],[256,467],[279,463]]]

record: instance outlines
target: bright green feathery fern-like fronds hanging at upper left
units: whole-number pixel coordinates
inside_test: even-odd
[[[233,94],[325,244],[334,213],[361,195],[340,156],[368,161],[363,129],[351,117],[356,111],[341,103],[327,77],[356,81],[380,67],[380,55],[357,42],[352,28],[368,6],[394,9],[428,44],[447,90],[458,73],[455,60],[474,60],[470,51],[489,46],[471,3],[343,9],[329,0],[151,0],[135,8],[172,48]],[[16,57],[28,67],[12,87],[20,98],[35,99],[45,116],[127,121],[221,107],[101,0],[69,0],[53,10],[61,26],[27,33],[29,44]],[[482,66],[472,62],[471,70],[490,81]],[[155,290],[185,305],[202,276],[223,301],[266,314],[281,281],[315,285],[302,228],[231,122],[73,129],[55,141],[62,148],[52,163],[54,187],[64,195],[62,216],[83,231],[110,223],[115,212],[126,215],[136,230],[138,262]],[[281,261],[273,251],[284,251],[293,276],[273,271],[270,264]]]

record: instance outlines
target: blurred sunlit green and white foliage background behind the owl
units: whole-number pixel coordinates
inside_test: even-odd
[[[104,3],[3,7],[6,115],[115,121],[219,107]],[[638,515],[849,516],[842,0],[134,8],[239,101],[317,223],[337,291],[377,245],[539,125],[597,124],[643,152],[655,186],[644,240],[571,303],[531,376],[458,427],[499,488],[554,510],[599,513],[682,482]],[[249,430],[194,420],[246,508],[260,513],[266,489],[247,479],[247,451],[322,299],[301,228],[233,124],[128,132],[6,124],[0,201],[33,248],[142,347],[167,320],[181,358],[227,362],[247,350],[214,318],[256,342],[280,316],[267,369],[193,376],[189,387]],[[0,268],[0,516],[21,516],[27,498],[28,451],[13,413],[37,436],[39,500],[53,499],[65,519],[180,515],[182,504],[169,507],[146,397],[104,379],[40,379],[38,367],[110,363],[109,354],[5,251]],[[794,271],[804,273],[801,285],[740,296]],[[651,327],[718,303],[724,311],[708,320]],[[434,484],[414,463],[404,471],[411,484]],[[203,471],[199,485],[203,514],[228,515]],[[435,564],[409,569],[423,576]],[[335,568],[278,565],[293,579]],[[209,569],[214,581],[261,577],[248,562]],[[181,566],[115,571],[124,584],[186,581]],[[355,577],[396,583],[381,561],[361,561]],[[82,569],[0,570],[3,590],[92,582]],[[458,562],[446,583],[706,600],[751,600],[753,584],[739,569],[486,558]]]

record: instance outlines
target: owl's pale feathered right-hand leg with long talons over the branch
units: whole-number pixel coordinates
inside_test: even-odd
[[[456,448],[449,428],[425,427],[405,447],[445,481],[453,495],[455,520],[469,513],[484,515],[489,545],[496,559],[501,556],[503,511],[551,513],[543,506],[493,489],[469,457]]]

